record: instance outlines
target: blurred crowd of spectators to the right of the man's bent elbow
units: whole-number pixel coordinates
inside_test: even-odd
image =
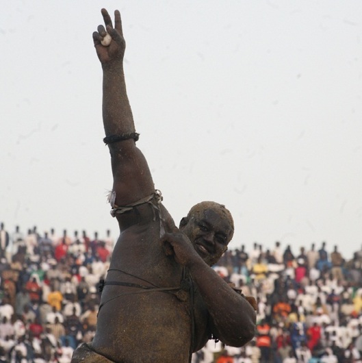
[[[326,242],[307,250],[227,251],[215,270],[257,298],[255,339],[242,348],[209,340],[196,363],[362,362],[362,250],[346,260]]]

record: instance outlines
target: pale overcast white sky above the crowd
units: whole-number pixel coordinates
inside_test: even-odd
[[[231,247],[362,244],[361,1],[18,1],[0,13],[0,221],[110,228],[92,32],[119,9],[142,149],[175,221],[202,200]]]

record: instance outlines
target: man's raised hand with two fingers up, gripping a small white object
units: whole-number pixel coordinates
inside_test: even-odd
[[[96,48],[96,54],[102,65],[112,64],[113,62],[120,62],[122,64],[123,56],[125,55],[125,38],[122,34],[122,22],[120,20],[120,12],[116,10],[114,12],[114,27],[112,25],[112,19],[109,16],[107,10],[102,9],[103,20],[105,27],[99,25],[97,32],[93,33],[94,47]],[[102,45],[102,41],[107,35],[112,37],[109,45]]]

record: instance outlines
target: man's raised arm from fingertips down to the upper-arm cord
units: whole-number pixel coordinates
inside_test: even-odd
[[[109,146],[114,177],[116,205],[129,205],[155,192],[153,180],[142,152],[135,146],[138,134],[127,97],[123,57],[125,39],[120,12],[114,12],[114,26],[107,10],[101,10],[105,27],[93,33],[94,47],[103,68],[103,125]],[[103,45],[106,34],[112,37]],[[104,43],[104,41],[103,41]],[[105,43],[104,43],[105,44]]]

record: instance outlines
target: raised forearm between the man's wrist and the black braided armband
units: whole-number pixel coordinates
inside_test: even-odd
[[[103,125],[105,135],[135,132],[122,61],[103,64]]]

